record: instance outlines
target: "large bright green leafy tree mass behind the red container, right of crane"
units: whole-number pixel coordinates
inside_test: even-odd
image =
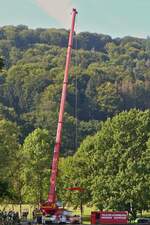
[[[85,188],[84,202],[99,209],[147,210],[150,200],[150,111],[123,112],[103,123],[72,158],[60,164],[62,184]],[[71,194],[69,194],[71,195]],[[70,197],[70,196],[69,196]],[[68,193],[65,198],[69,202]],[[72,200],[72,204],[79,204]]]

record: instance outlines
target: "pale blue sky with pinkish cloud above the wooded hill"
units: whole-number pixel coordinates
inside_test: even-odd
[[[0,26],[68,29],[72,7],[78,10],[77,32],[150,36],[150,0],[0,0]]]

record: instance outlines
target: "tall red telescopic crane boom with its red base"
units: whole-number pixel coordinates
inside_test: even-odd
[[[63,115],[64,115],[64,108],[65,108],[65,102],[66,102],[66,95],[67,95],[68,72],[69,72],[69,66],[71,61],[71,50],[72,50],[72,44],[73,44],[73,34],[74,34],[76,15],[77,15],[77,11],[76,9],[73,9],[72,24],[71,24],[70,34],[69,34],[68,49],[67,49],[67,56],[66,56],[66,67],[65,67],[65,74],[64,74],[64,81],[63,81],[63,88],[62,88],[62,95],[61,95],[61,102],[60,102],[58,125],[57,125],[56,141],[54,146],[54,155],[53,155],[52,169],[51,169],[51,176],[50,176],[50,191],[48,194],[48,201],[41,205],[41,210],[44,214],[54,214],[57,211],[59,211],[59,207],[56,204],[57,203],[56,179],[57,179],[57,173],[58,173],[59,153],[60,153],[61,139],[62,139]]]

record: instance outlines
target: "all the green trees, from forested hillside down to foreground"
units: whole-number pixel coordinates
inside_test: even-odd
[[[81,186],[86,204],[147,209],[149,111],[129,110],[150,108],[149,38],[75,38],[61,156],[80,148],[60,162],[59,196],[77,206],[80,194],[63,187]],[[17,202],[37,203],[48,192],[67,42],[63,29],[0,28],[0,188]]]

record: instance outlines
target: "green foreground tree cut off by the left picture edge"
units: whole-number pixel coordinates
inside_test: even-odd
[[[5,194],[1,193],[5,200],[17,199],[13,179],[17,174],[19,135],[20,131],[15,123],[0,120],[0,188],[6,188]]]

